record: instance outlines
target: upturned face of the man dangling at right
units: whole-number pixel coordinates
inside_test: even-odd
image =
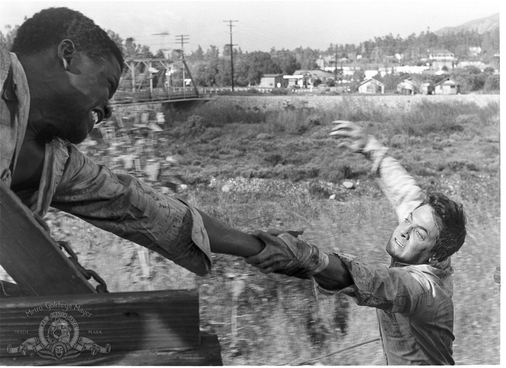
[[[418,207],[397,226],[387,243],[387,252],[394,260],[407,264],[427,263],[439,230],[429,205]]]

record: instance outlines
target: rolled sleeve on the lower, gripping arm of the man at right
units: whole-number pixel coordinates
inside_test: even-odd
[[[386,267],[368,265],[357,257],[335,253],[353,278],[353,284],[333,293],[343,293],[361,306],[374,307],[386,312],[413,315],[423,310],[430,295],[430,284],[405,267]],[[318,287],[320,293],[330,294]]]

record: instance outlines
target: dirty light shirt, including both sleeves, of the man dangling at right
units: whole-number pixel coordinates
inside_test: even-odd
[[[378,184],[401,222],[423,200],[423,192],[393,157],[379,164]],[[450,258],[432,265],[395,262],[366,264],[336,253],[354,284],[338,293],[361,306],[376,308],[388,365],[453,365],[453,284]],[[336,292],[318,287],[323,294]]]

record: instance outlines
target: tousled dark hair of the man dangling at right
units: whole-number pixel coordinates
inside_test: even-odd
[[[451,256],[466,240],[466,214],[462,205],[443,193],[428,193],[420,206],[424,205],[431,207],[439,230],[433,251],[445,251],[446,257]]]

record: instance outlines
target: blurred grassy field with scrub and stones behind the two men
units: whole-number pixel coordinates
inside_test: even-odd
[[[387,265],[393,210],[365,159],[328,137],[331,120],[357,121],[391,147],[424,190],[463,203],[469,235],[452,257],[453,356],[457,364],[499,364],[499,96],[319,98],[222,96],[167,111],[156,135],[116,131],[82,149],[147,181],[148,163],[161,162],[154,186],[174,195],[168,182],[182,179],[187,187],[176,195],[243,231],[302,228],[303,238],[324,251]],[[132,111],[119,113],[129,126]],[[125,168],[117,157],[133,152],[138,161]],[[378,341],[354,347],[378,338],[375,311],[346,297],[317,298],[310,281],[263,275],[223,255],[213,256],[209,275],[196,277],[71,216],[48,219],[54,237],[70,240],[111,291],[198,288],[201,329],[219,336],[227,365],[384,364]]]

